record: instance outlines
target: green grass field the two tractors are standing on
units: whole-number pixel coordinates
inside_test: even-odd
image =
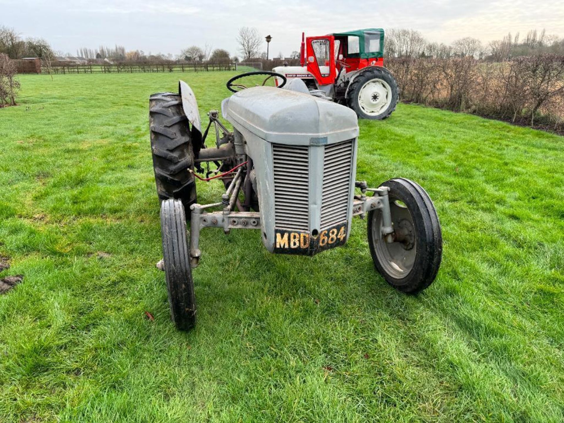
[[[202,118],[232,74],[184,76]],[[365,221],[314,258],[205,230],[182,333],[148,135],[178,77],[22,76],[0,109],[0,277],[24,275],[0,296],[0,422],[564,420],[564,138],[417,105],[361,121],[358,178],[437,206],[435,283],[391,289]]]

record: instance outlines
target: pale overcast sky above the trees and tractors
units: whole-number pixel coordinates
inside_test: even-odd
[[[353,6],[354,5],[354,6]],[[525,0],[0,0],[0,25],[47,39],[55,50],[124,45],[178,54],[191,45],[237,54],[237,28],[270,34],[271,56],[299,50],[306,35],[360,28],[412,28],[430,41],[472,36],[486,42],[508,32],[564,36],[564,1]],[[265,48],[266,50],[266,42]]]

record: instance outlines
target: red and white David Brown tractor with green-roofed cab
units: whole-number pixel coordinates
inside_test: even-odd
[[[301,66],[272,69],[290,83],[303,81],[312,95],[348,105],[359,118],[385,119],[398,102],[398,84],[384,68],[384,29],[359,29],[307,37]],[[283,80],[276,78],[277,83]]]

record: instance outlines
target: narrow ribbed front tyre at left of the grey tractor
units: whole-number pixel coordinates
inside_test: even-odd
[[[161,237],[170,316],[178,329],[188,331],[196,324],[196,298],[182,201],[162,201]]]

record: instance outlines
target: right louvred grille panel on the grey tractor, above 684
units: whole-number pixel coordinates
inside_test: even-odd
[[[346,221],[349,211],[352,142],[325,147],[323,159],[323,194],[321,196],[321,229]]]

